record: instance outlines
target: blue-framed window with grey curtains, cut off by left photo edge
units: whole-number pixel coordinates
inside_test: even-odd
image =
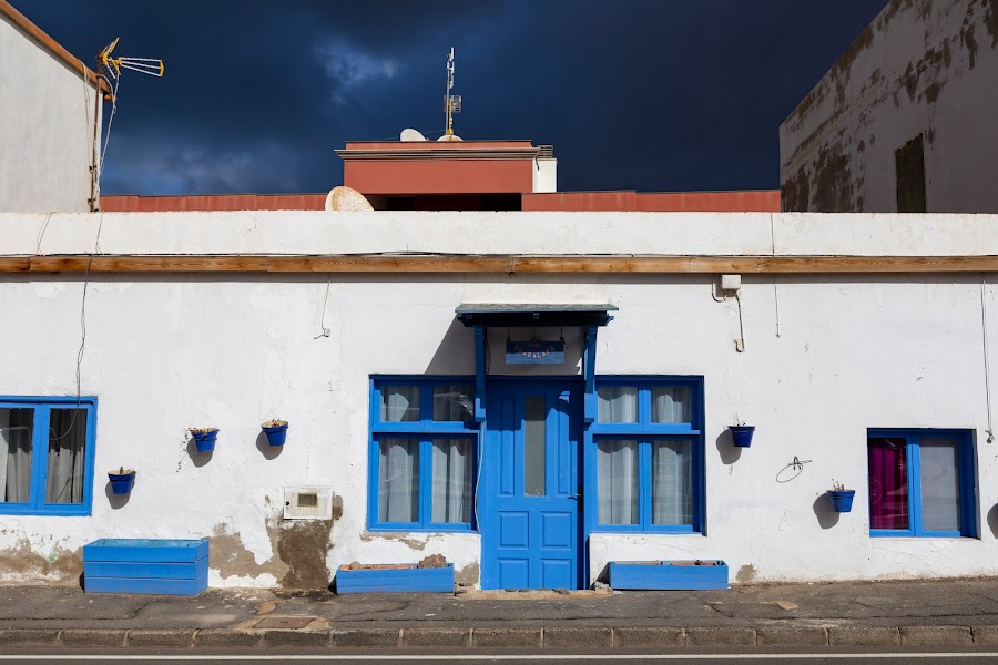
[[[0,514],[89,515],[96,398],[0,397]]]

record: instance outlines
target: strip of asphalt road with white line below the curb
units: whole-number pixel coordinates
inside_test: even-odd
[[[502,651],[406,651],[391,649],[390,652],[350,651],[335,654],[317,651],[287,651],[276,649],[143,649],[142,652],[129,652],[126,649],[113,649],[110,652],[80,651],[68,652],[7,652],[0,653],[0,665],[38,665],[39,663],[70,664],[70,663],[141,663],[142,665],[175,665],[182,662],[197,663],[226,663],[241,665],[257,665],[261,662],[276,663],[329,663],[334,665],[371,665],[378,663],[499,663],[501,665],[540,665],[548,663],[583,663],[592,665],[615,665],[625,663],[663,663],[673,664],[745,664],[745,663],[777,663],[780,665],[845,665],[845,664],[874,664],[877,665],[914,665],[916,663],[944,665],[971,665],[998,663],[998,651],[985,649],[947,649],[935,652],[916,652],[902,649],[864,649],[852,652],[829,649],[816,649],[806,653],[803,649],[794,651],[767,651],[753,649],[745,653],[730,653],[699,649],[684,649],[682,652],[662,653],[654,651],[634,651],[628,653],[614,652],[612,654],[583,653],[571,651],[557,652],[525,652],[511,653],[511,649]]]

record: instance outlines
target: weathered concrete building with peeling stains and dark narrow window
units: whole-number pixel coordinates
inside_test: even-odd
[[[784,211],[998,211],[998,2],[892,0],[780,127]]]

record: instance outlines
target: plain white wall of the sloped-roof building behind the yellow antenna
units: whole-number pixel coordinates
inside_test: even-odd
[[[2,14],[0,62],[0,211],[89,211],[94,86]]]

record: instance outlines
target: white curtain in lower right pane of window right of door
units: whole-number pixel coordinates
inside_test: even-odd
[[[652,441],[652,523],[693,523],[693,443]]]

